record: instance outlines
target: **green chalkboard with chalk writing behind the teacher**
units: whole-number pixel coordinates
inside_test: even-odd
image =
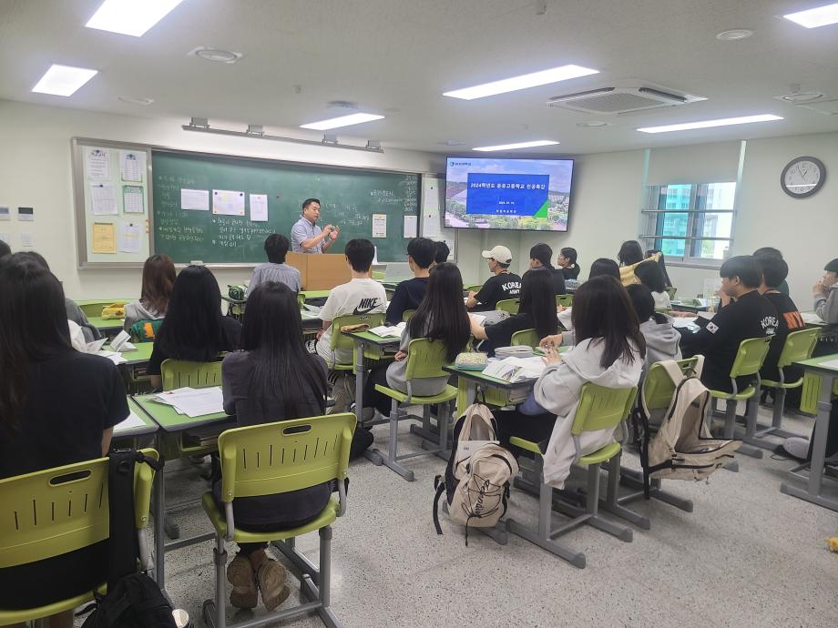
[[[418,216],[419,175],[240,157],[153,150],[154,250],[176,263],[258,263],[271,233],[291,238],[305,198],[320,198],[321,222],[341,228],[330,253],[369,238],[382,262],[405,261],[404,216]],[[209,194],[209,210],[181,207],[181,190]],[[244,215],[216,213],[216,191],[243,194]],[[188,192],[189,194],[189,192]],[[268,220],[250,220],[250,195],[267,195]],[[387,216],[386,238],[373,238],[373,214]]]

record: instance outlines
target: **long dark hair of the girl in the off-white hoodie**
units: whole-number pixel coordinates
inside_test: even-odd
[[[594,277],[573,295],[571,313],[576,343],[601,338],[605,350],[599,366],[608,369],[617,360],[629,364],[646,356],[646,340],[640,333],[638,315],[628,300],[628,292],[613,277]]]

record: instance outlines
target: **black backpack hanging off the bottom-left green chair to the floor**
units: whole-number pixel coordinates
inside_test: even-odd
[[[108,454],[107,492],[110,513],[107,595],[97,595],[96,608],[82,628],[177,628],[172,607],[157,582],[137,571],[139,547],[134,527],[134,465],[163,465],[139,451]]]

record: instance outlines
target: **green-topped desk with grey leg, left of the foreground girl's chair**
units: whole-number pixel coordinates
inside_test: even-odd
[[[154,401],[158,393],[137,395],[134,401],[137,403],[149,419],[158,424],[159,430],[156,435],[155,449],[160,454],[160,461],[164,461],[163,439],[167,435],[180,436],[186,430],[203,427],[207,425],[223,426],[229,424],[235,426],[235,419],[225,412],[216,412],[204,416],[190,418],[185,414],[178,414],[174,408],[165,403]],[[174,542],[166,542],[163,520],[166,510],[166,473],[156,473],[154,477],[155,491],[152,501],[152,512],[154,514],[154,577],[161,589],[166,588],[165,557],[166,552],[187,547],[197,542],[208,541],[215,538],[215,532],[206,532],[193,536],[189,539],[179,539]]]

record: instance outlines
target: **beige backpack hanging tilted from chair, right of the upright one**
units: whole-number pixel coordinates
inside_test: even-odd
[[[715,439],[705,420],[710,403],[710,391],[701,383],[704,356],[697,356],[694,369],[686,373],[675,360],[662,360],[658,364],[675,385],[669,407],[663,416],[654,439],[649,438],[649,408],[640,396],[642,412],[635,416],[643,422],[640,442],[640,462],[643,467],[644,489],[649,491],[649,481],[704,480],[721,466],[733,459],[742,441]]]

